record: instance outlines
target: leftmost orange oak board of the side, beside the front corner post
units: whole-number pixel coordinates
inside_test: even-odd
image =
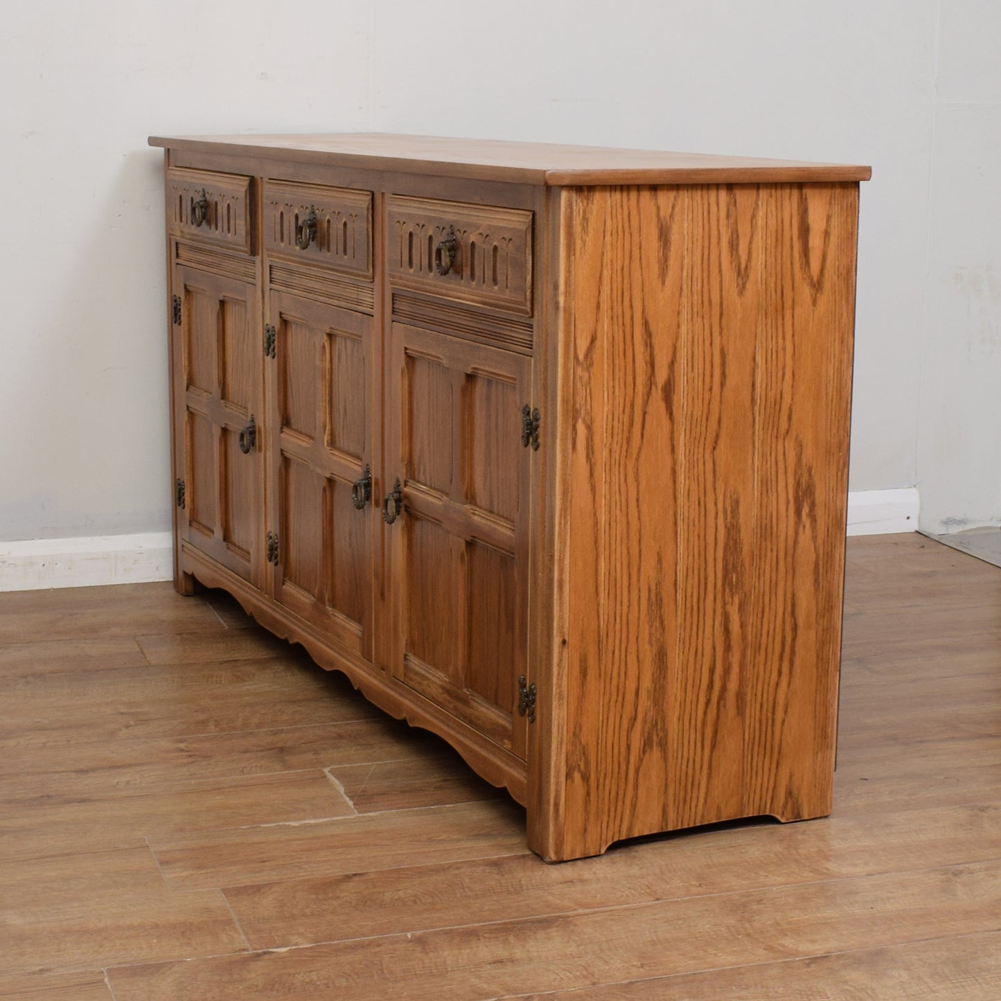
[[[684,206],[678,189],[584,189],[564,303],[573,352],[563,857],[667,827],[676,646],[675,467]]]

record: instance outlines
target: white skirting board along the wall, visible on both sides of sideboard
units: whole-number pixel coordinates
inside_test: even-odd
[[[848,494],[848,535],[916,532],[917,489]],[[0,543],[0,591],[169,581],[169,532]]]

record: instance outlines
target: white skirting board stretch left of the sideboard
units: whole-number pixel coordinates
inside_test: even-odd
[[[169,532],[0,542],[0,591],[169,581]]]

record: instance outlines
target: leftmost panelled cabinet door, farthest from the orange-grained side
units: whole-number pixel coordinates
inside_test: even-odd
[[[263,510],[261,351],[256,286],[178,267],[183,450],[179,531],[223,567],[259,584]],[[179,332],[178,332],[179,331]]]

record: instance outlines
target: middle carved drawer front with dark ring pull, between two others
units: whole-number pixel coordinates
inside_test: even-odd
[[[370,191],[264,182],[264,247],[271,256],[370,279],[371,232]]]

